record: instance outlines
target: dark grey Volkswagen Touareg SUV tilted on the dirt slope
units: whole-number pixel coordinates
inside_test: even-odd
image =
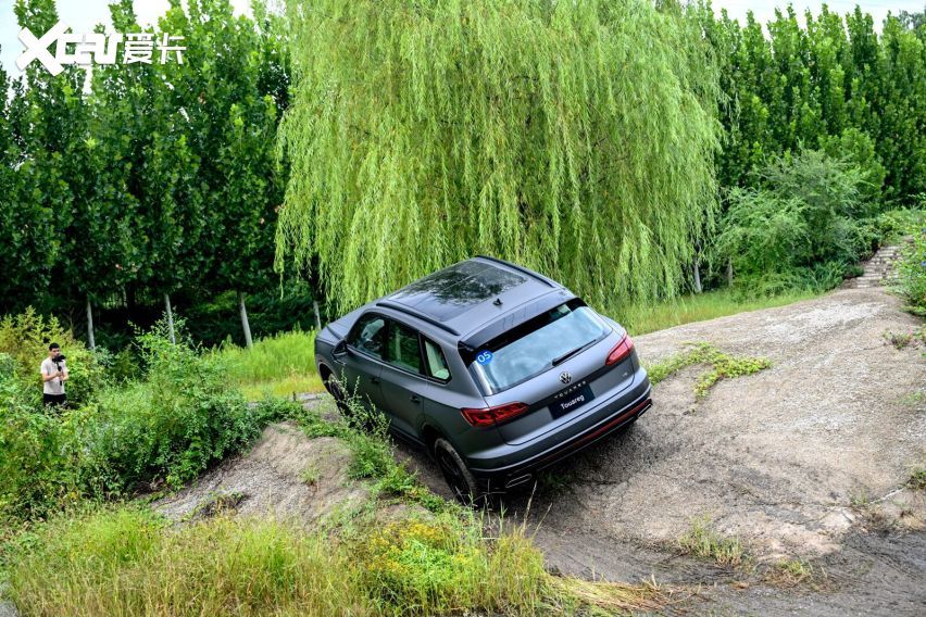
[[[328,391],[383,411],[461,501],[530,480],[636,420],[650,382],[624,328],[558,282],[478,256],[327,325]]]

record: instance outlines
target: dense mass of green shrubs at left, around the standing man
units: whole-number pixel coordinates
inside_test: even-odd
[[[221,363],[188,341],[171,343],[164,323],[138,345],[133,381],[105,385],[60,415],[0,353],[0,515],[34,518],[84,496],[178,487],[296,413],[273,399],[250,407]]]

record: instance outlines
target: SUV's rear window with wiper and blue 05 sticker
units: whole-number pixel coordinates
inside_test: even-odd
[[[574,298],[475,350],[470,370],[495,394],[539,375],[610,331],[591,308]]]

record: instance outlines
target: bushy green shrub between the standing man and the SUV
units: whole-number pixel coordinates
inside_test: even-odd
[[[183,322],[177,324],[183,332]],[[165,480],[178,487],[250,443],[286,408],[248,406],[224,365],[188,340],[170,341],[164,323],[138,337],[145,380],[103,392],[93,410],[90,458],[109,490]],[[98,474],[99,475],[99,471]]]

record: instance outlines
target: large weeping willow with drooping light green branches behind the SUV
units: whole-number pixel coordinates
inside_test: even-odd
[[[673,294],[714,204],[716,72],[677,5],[289,0],[276,267],[346,308],[473,254]]]

